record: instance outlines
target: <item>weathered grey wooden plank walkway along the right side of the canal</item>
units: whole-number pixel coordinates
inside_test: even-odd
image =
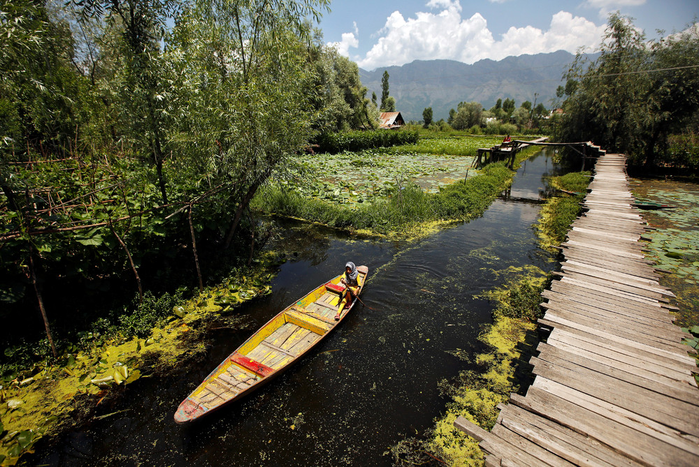
[[[600,156],[586,212],[545,291],[526,396],[512,394],[488,432],[463,417],[488,466],[699,466],[695,361],[639,242],[647,226],[626,158]]]

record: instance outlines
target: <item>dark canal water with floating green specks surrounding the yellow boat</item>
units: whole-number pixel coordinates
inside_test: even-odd
[[[448,352],[477,341],[492,306],[476,295],[503,283],[507,267],[552,269],[533,223],[547,175],[542,152],[517,173],[510,200],[481,218],[421,242],[359,241],[333,230],[284,223],[293,260],[273,293],[240,310],[245,329],[216,329],[206,360],[171,378],[142,378],[115,406],[123,410],[39,451],[46,466],[389,466],[391,445],[423,433],[445,408],[438,382],[467,363]],[[516,201],[514,201],[516,200]],[[533,202],[525,202],[533,200]],[[257,327],[347,260],[370,280],[356,306],[312,353],[264,389],[192,426],[175,424],[182,399]]]

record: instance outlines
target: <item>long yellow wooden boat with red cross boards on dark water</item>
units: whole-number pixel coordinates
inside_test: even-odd
[[[369,273],[356,268],[359,293]],[[329,334],[358,302],[354,299],[336,321],[340,295],[345,286],[340,274],[302,299],[287,306],[257,330],[203,380],[180,403],[175,413],[178,423],[191,422],[243,397],[287,369]]]

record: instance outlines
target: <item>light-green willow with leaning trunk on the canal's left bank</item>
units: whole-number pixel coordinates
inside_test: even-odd
[[[307,144],[313,120],[308,17],[327,0],[200,1],[168,38],[178,109],[173,177],[219,191],[231,244],[259,187]],[[199,188],[197,188],[199,187]]]

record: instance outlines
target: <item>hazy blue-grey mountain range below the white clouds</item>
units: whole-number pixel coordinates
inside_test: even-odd
[[[489,109],[498,98],[514,98],[517,107],[524,101],[552,107],[556,88],[563,73],[575,59],[570,52],[520,55],[500,61],[490,59],[473,65],[454,60],[416,60],[403,66],[388,66],[375,71],[359,69],[359,77],[368,88],[366,96],[376,93],[381,100],[381,77],[389,72],[389,95],[396,98],[396,110],[403,118],[419,121],[422,111],[431,107],[435,120],[447,119],[449,109],[461,101],[476,101]]]

